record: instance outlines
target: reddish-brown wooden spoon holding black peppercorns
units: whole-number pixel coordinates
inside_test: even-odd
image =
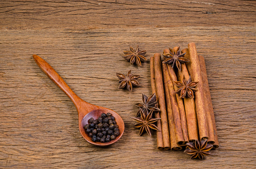
[[[48,75],[48,77],[51,78],[53,82],[56,85],[58,85],[62,89],[62,91],[64,91],[75,104],[78,112],[79,130],[82,136],[84,137],[84,139],[86,139],[88,142],[92,144],[100,145],[100,146],[112,144],[116,142],[118,139],[120,139],[124,131],[124,123],[122,118],[116,112],[114,112],[111,109],[101,107],[98,105],[93,105],[82,100],[72,91],[72,89],[61,78],[61,76],[52,68],[50,64],[48,64],[44,59],[42,59],[36,54],[33,55],[33,58],[35,59],[37,65],[46,73],[46,75]],[[92,141],[91,137],[89,137],[89,135],[85,133],[83,126],[85,124],[88,124],[89,118],[93,117],[94,119],[97,119],[103,112],[104,113],[110,112],[115,117],[115,121],[118,125],[120,135],[116,136],[114,140],[111,140],[109,142],[94,142]]]

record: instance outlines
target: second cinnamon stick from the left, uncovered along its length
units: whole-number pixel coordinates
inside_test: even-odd
[[[165,91],[163,84],[163,73],[162,73],[162,60],[161,54],[154,54],[154,68],[155,68],[155,79],[156,79],[156,89],[157,89],[157,98],[161,117],[161,126],[162,126],[162,137],[163,144],[165,149],[170,149],[170,134],[168,126],[168,118],[165,105]]]

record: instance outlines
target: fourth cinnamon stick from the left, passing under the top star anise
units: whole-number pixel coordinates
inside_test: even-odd
[[[174,47],[173,50],[176,50],[176,48],[178,48],[178,47]],[[167,52],[169,52],[169,49],[164,50],[164,53],[167,53]],[[170,64],[167,64],[167,67],[168,67],[168,71],[169,71],[169,75],[170,75],[171,80],[177,81],[177,77],[176,77],[175,71],[172,68],[172,66]],[[178,87],[176,85],[174,85],[173,88],[175,90],[178,89]],[[175,90],[173,90],[173,92],[175,92]],[[177,99],[177,103],[178,103],[178,107],[179,107],[179,114],[177,114],[177,115],[180,116],[183,138],[184,138],[185,142],[188,142],[189,137],[188,137],[188,129],[187,129],[187,120],[186,120],[186,114],[185,114],[185,108],[184,108],[183,100],[182,100],[182,98],[179,97],[178,94],[175,94],[175,95],[176,95],[176,99]],[[175,115],[174,115],[174,117],[175,117]]]

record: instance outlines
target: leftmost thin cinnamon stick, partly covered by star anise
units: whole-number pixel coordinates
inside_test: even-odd
[[[156,93],[157,95],[157,88],[156,88],[156,79],[155,79],[155,68],[154,68],[154,57],[150,57],[150,76],[151,76],[151,88],[152,93]],[[160,118],[160,112],[155,112],[155,117]],[[161,121],[157,121],[157,127],[159,131],[157,131],[157,148],[160,150],[165,150],[163,144],[163,136],[162,136],[162,127]]]

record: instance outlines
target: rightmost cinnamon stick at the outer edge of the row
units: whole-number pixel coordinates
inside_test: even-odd
[[[218,136],[217,136],[217,128],[216,128],[216,123],[215,123],[215,117],[214,117],[214,112],[213,112],[213,106],[211,102],[211,93],[210,93],[210,88],[209,88],[209,83],[208,83],[208,78],[207,78],[207,72],[206,72],[206,66],[204,62],[204,57],[201,55],[198,55],[199,61],[200,61],[200,66],[201,66],[201,73],[203,77],[203,87],[204,87],[204,95],[205,95],[205,101],[204,104],[208,108],[208,113],[206,114],[207,120],[208,120],[208,126],[209,126],[209,143],[213,144],[214,148],[219,147],[219,142],[218,142]],[[213,136],[213,138],[212,138]]]

